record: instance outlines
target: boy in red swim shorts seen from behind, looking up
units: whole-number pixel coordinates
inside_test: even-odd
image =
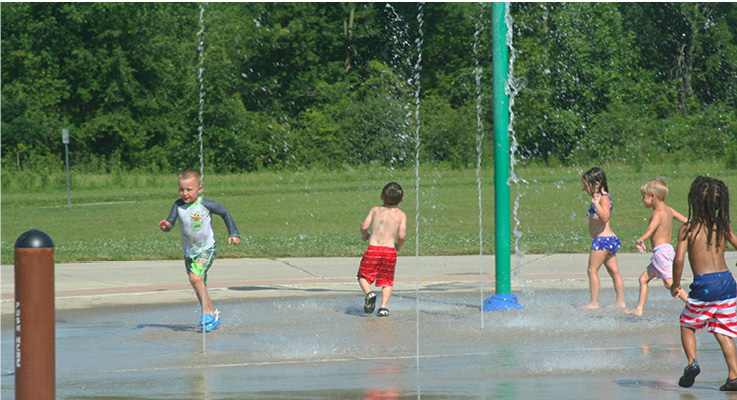
[[[389,315],[386,305],[394,286],[397,251],[407,238],[407,216],[399,209],[404,191],[398,183],[389,182],[384,186],[381,200],[384,204],[373,207],[361,225],[361,237],[369,241],[369,247],[358,269],[358,284],[366,294],[363,311],[370,314],[376,305],[376,294],[371,292],[371,284],[376,282],[376,287],[381,288],[381,306],[376,314],[386,317]]]

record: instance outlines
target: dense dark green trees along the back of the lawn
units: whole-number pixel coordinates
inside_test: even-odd
[[[201,92],[216,172],[412,162],[418,86],[423,162],[474,165],[479,97],[493,127],[488,5],[203,7],[201,88],[196,3],[2,3],[3,168],[62,168],[62,128],[76,170],[197,167]],[[524,157],[737,165],[737,4],[510,14]]]

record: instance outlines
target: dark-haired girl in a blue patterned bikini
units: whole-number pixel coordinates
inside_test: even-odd
[[[614,204],[609,195],[606,174],[599,167],[591,168],[583,174],[581,183],[583,191],[591,196],[591,207],[586,215],[589,217],[589,234],[594,239],[591,243],[588,266],[591,301],[583,308],[589,310],[599,308],[599,287],[601,286],[599,268],[602,264],[614,281],[614,292],[617,295],[615,304],[625,308],[624,282],[617,266],[617,250],[622,247],[622,243],[609,226]]]

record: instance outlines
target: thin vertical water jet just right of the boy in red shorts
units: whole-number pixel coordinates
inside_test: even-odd
[[[422,3],[417,6],[418,36],[417,61],[412,75],[415,89],[415,331],[416,331],[416,367],[420,369],[420,71],[422,70],[422,42],[424,41]],[[418,391],[419,393],[419,391]],[[419,394],[418,394],[419,396]]]

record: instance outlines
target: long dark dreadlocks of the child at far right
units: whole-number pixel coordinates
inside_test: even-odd
[[[688,192],[688,222],[683,240],[692,233],[706,228],[706,248],[721,245],[729,235],[729,189],[719,179],[699,176]]]

